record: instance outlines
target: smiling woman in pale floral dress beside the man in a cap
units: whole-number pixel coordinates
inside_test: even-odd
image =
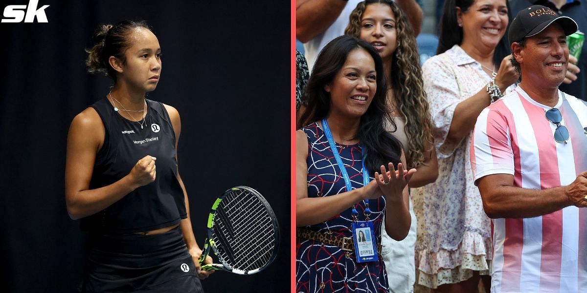
[[[438,179],[411,193],[418,220],[416,284],[421,289],[477,292],[480,275],[489,274],[490,220],[468,158],[477,116],[492,100],[487,87],[505,93],[518,79],[505,56],[507,26],[506,0],[447,0],[438,55],[422,68]]]

